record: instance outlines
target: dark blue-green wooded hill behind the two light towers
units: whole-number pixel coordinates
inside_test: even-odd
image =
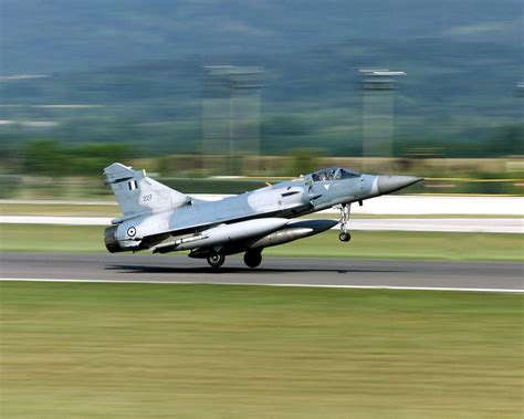
[[[522,127],[523,98],[515,94],[521,53],[511,43],[444,38],[355,40],[294,52],[191,54],[4,80],[0,119],[52,124],[2,125],[0,140],[13,145],[44,136],[133,143],[146,154],[193,153],[201,149],[202,67],[235,64],[265,69],[263,153],[315,147],[327,155],[359,155],[363,92],[357,71],[387,67],[408,73],[394,93],[398,155],[429,147],[443,155],[482,156],[493,151],[490,144],[499,132],[513,133],[512,138],[522,133],[511,128]],[[67,104],[82,106],[63,106]],[[522,142],[516,143],[518,151]],[[516,151],[502,147],[499,153]]]

